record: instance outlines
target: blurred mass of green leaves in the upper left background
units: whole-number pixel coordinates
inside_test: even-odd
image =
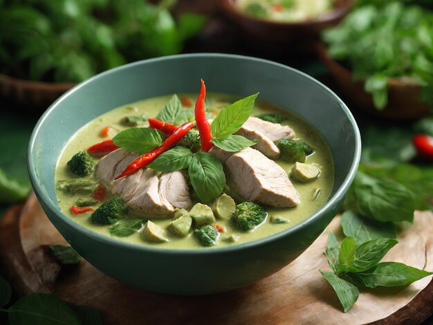
[[[145,0],[2,0],[0,71],[30,80],[80,82],[139,59],[181,52],[205,18]]]

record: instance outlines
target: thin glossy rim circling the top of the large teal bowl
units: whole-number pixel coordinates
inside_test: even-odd
[[[138,245],[137,243],[128,243],[125,241],[121,241],[119,239],[107,236],[106,234],[100,234],[98,232],[93,232],[89,228],[84,227],[83,225],[80,225],[79,223],[76,223],[71,219],[70,217],[66,216],[59,210],[59,206],[52,201],[50,201],[49,198],[47,198],[47,195],[44,192],[44,189],[42,188],[42,183],[39,182],[37,177],[37,168],[36,168],[36,162],[35,159],[33,159],[34,156],[37,156],[37,148],[35,145],[36,138],[38,136],[39,131],[42,129],[42,126],[45,122],[45,120],[48,118],[50,113],[54,111],[57,106],[62,104],[64,99],[70,95],[72,95],[75,91],[81,89],[82,87],[86,86],[86,84],[89,84],[91,82],[94,82],[95,80],[98,80],[100,78],[103,78],[107,75],[111,75],[113,73],[118,73],[118,71],[122,71],[124,69],[129,69],[133,66],[139,66],[142,64],[153,64],[154,62],[161,62],[161,61],[167,61],[167,60],[178,60],[178,59],[188,59],[188,58],[208,58],[212,59],[215,58],[225,58],[225,59],[235,59],[235,60],[248,60],[250,62],[258,62],[260,64],[268,64],[271,66],[277,66],[278,68],[283,68],[286,70],[289,70],[293,73],[297,73],[302,75],[302,77],[305,77],[310,82],[313,82],[317,84],[318,86],[321,86],[324,88],[325,91],[327,91],[337,102],[340,109],[342,109],[344,115],[346,115],[347,119],[349,120],[351,127],[353,129],[354,133],[354,140],[355,140],[355,148],[353,152],[353,158],[351,161],[351,165],[349,168],[349,172],[347,173],[346,177],[344,178],[344,181],[342,182],[342,185],[337,189],[337,191],[331,196],[328,201],[322,207],[317,209],[313,214],[308,216],[306,219],[301,221],[300,223],[297,223],[291,228],[288,228],[286,230],[283,230],[281,232],[277,232],[276,234],[273,234],[271,236],[266,236],[262,239],[257,239],[255,241],[248,241],[246,243],[239,243],[228,247],[212,247],[212,248],[163,248],[163,247],[154,247],[154,246],[148,246],[148,245]],[[314,223],[316,219],[319,219],[322,214],[325,212],[328,212],[332,209],[333,205],[335,203],[338,203],[340,201],[344,194],[349,189],[349,186],[351,185],[353,178],[355,178],[356,171],[358,170],[358,165],[360,161],[360,154],[361,154],[361,138],[360,138],[360,131],[358,129],[358,125],[356,124],[355,118],[353,118],[353,115],[349,111],[349,108],[347,107],[344,102],[338,97],[331,89],[329,89],[327,86],[319,82],[318,80],[315,80],[310,75],[307,75],[306,73],[303,73],[302,71],[298,71],[295,68],[291,68],[289,66],[286,66],[284,64],[279,64],[277,62],[273,62],[267,59],[260,59],[257,57],[248,57],[244,55],[232,55],[232,54],[221,54],[221,53],[190,53],[190,54],[181,54],[181,55],[169,55],[165,57],[156,57],[153,59],[145,59],[138,62],[133,62],[130,64],[125,64],[123,66],[119,66],[117,68],[113,68],[109,71],[105,71],[103,73],[99,73],[98,75],[95,75],[88,80],[85,80],[84,82],[81,82],[80,84],[77,84],[77,86],[73,87],[73,89],[70,89],[64,95],[59,97],[53,104],[49,106],[49,108],[44,112],[44,114],[39,118],[37,124],[35,125],[35,128],[33,129],[33,133],[30,137],[30,142],[28,144],[28,154],[27,154],[27,165],[28,165],[28,174],[30,176],[30,183],[33,186],[33,189],[35,190],[35,194],[39,201],[41,201],[42,206],[46,209],[50,210],[50,212],[55,215],[54,218],[58,218],[59,221],[62,223],[65,223],[69,228],[73,228],[73,230],[80,232],[80,234],[89,237],[93,241],[98,241],[100,243],[104,243],[107,245],[114,245],[118,246],[119,248],[125,248],[128,250],[133,250],[137,252],[149,252],[149,253],[156,253],[156,254],[187,254],[187,255],[201,255],[201,254],[221,254],[221,253],[228,253],[228,252],[237,252],[240,250],[246,250],[246,249],[252,249],[260,245],[264,245],[266,243],[269,243],[271,241],[277,241],[281,237],[288,236],[292,233],[296,233],[300,229],[306,227],[306,225],[309,225],[311,223]],[[48,216],[48,213],[47,213]],[[48,219],[51,219],[51,216],[48,216]]]

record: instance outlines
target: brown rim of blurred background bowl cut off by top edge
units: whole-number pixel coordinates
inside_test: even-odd
[[[227,12],[229,15],[233,15],[234,17],[245,19],[255,24],[268,24],[273,27],[311,27],[311,26],[320,26],[322,24],[329,24],[334,21],[338,21],[338,19],[347,15],[351,8],[353,7],[353,0],[340,0],[342,4],[340,6],[336,6],[329,12],[325,12],[323,15],[315,19],[306,19],[302,21],[273,21],[268,19],[259,19],[254,16],[246,15],[234,8],[234,1],[236,0],[218,0],[219,5]]]

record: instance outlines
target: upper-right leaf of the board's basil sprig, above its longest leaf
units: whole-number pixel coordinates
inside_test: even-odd
[[[349,237],[348,237],[349,238]],[[362,272],[375,266],[387,252],[393,248],[398,241],[389,238],[378,238],[366,241],[356,248],[355,258],[349,270],[351,272]]]

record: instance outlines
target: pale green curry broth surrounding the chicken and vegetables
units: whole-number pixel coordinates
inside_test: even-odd
[[[62,154],[60,155],[57,162],[55,172],[56,182],[57,180],[66,180],[73,178],[73,176],[71,176],[70,172],[66,167],[66,163],[78,151],[84,151],[91,145],[94,145],[95,143],[104,140],[99,136],[100,130],[103,127],[112,127],[113,134],[111,134],[110,136],[114,136],[114,134],[123,131],[124,129],[127,129],[127,127],[124,127],[122,126],[122,124],[120,124],[120,120],[122,120],[122,118],[127,115],[146,115],[149,117],[154,117],[158,114],[160,109],[163,109],[165,104],[169,101],[170,97],[171,95],[166,95],[147,100],[140,100],[139,102],[120,106],[118,109],[114,109],[112,111],[109,111],[108,113],[104,113],[100,117],[86,124],[80,130],[78,130],[77,133],[75,133],[75,136],[71,138],[71,140],[67,143],[66,147],[62,151]],[[194,98],[195,96],[190,95],[190,97]],[[207,104],[208,106],[210,106],[210,111],[215,113],[219,109],[222,109],[226,104],[234,102],[237,99],[238,97],[234,97],[232,95],[210,93],[207,97]],[[295,180],[292,180],[293,185],[300,194],[300,205],[293,208],[266,207],[268,217],[266,218],[266,221],[259,225],[255,230],[252,230],[250,232],[241,232],[234,228],[230,221],[221,221],[217,219],[216,223],[225,226],[227,232],[220,234],[219,241],[214,247],[234,245],[234,243],[230,243],[229,241],[224,240],[232,234],[239,235],[239,241],[237,241],[236,243],[245,243],[248,241],[254,241],[256,239],[261,239],[266,236],[276,234],[277,232],[281,232],[282,230],[286,230],[287,228],[293,227],[293,225],[300,223],[300,221],[303,221],[308,216],[313,214],[313,212],[315,212],[315,210],[317,210],[320,206],[324,205],[324,203],[329,197],[329,194],[331,193],[334,178],[333,158],[324,138],[322,138],[320,133],[315,130],[310,124],[302,120],[297,115],[293,113],[288,113],[286,111],[281,111],[275,106],[272,106],[268,103],[258,101],[251,115],[254,116],[259,113],[266,113],[269,111],[276,111],[288,117],[289,122],[287,124],[295,131],[295,139],[302,139],[307,142],[308,145],[311,145],[315,149],[315,153],[306,158],[306,163],[320,165],[320,169],[322,172],[316,180],[313,180],[310,183],[299,183]],[[293,163],[286,163],[282,160],[275,161],[283,167],[287,174],[290,175],[290,170],[294,165]],[[320,189],[320,195],[314,199],[317,189]],[[65,194],[59,190],[56,191],[59,201],[59,207],[62,212],[66,214],[66,216],[71,217],[73,221],[79,223],[80,225],[83,225],[84,227],[92,230],[93,232],[112,236],[108,230],[109,225],[102,226],[93,225],[90,223],[89,217],[91,215],[91,212],[78,215],[72,214],[71,206],[74,205],[75,201],[79,197],[78,195],[72,196]],[[109,191],[107,191],[107,194],[107,199],[111,198],[111,195],[109,195]],[[97,206],[95,206],[95,208],[96,207]],[[288,223],[270,223],[270,216],[280,216],[284,219],[287,219]],[[171,220],[171,218],[152,219],[154,223],[156,223],[163,229],[167,229]],[[192,231],[190,231],[190,234],[188,234],[187,237],[175,236],[171,234],[169,230],[166,230],[165,234],[167,238],[169,238],[169,242],[166,243],[148,243],[146,241],[143,241],[140,238],[139,232],[129,237],[113,237],[120,241],[126,241],[128,243],[136,243],[139,245],[152,245],[160,248],[203,248],[203,246],[200,245],[199,241],[194,238],[194,234],[192,233]]]

